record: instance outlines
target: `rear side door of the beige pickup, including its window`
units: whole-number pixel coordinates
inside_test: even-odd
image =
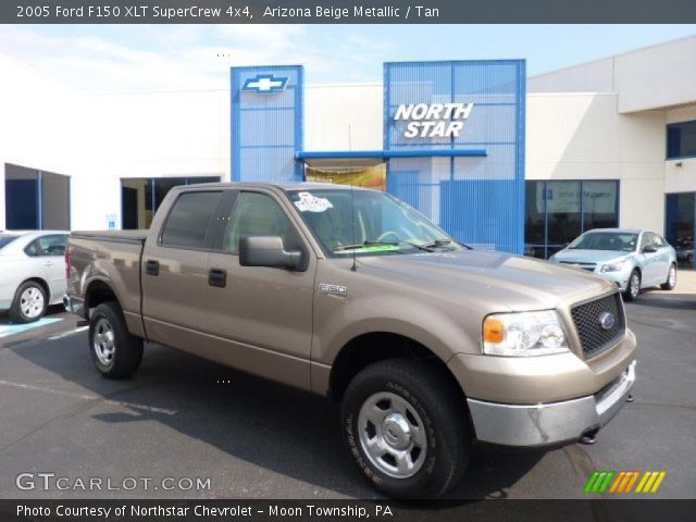
[[[208,256],[221,190],[184,191],[142,252],[142,319],[148,338],[194,351],[204,330]],[[153,224],[153,226],[156,226]]]

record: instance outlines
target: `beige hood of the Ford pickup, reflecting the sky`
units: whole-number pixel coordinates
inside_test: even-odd
[[[365,257],[360,264],[411,285],[487,301],[501,311],[549,309],[616,290],[604,277],[583,270],[485,250]]]

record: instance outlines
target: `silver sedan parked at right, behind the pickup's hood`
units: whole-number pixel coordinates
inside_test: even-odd
[[[642,288],[676,285],[676,252],[662,236],[634,228],[595,228],[550,258],[613,281],[626,300]]]

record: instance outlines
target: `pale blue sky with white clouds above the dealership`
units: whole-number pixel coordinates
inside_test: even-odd
[[[235,65],[309,84],[381,83],[382,63],[517,59],[530,76],[696,35],[696,25],[0,25],[0,53],[87,91],[226,89]]]

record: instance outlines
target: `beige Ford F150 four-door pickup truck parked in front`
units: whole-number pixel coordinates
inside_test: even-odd
[[[376,190],[176,187],[149,231],[74,232],[66,258],[105,377],[147,340],[338,400],[350,458],[393,497],[445,493],[474,442],[592,443],[635,382],[614,284],[471,249]]]

